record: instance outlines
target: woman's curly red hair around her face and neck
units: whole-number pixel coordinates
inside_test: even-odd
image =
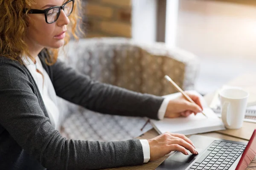
[[[35,0],[0,0],[0,55],[9,59],[17,60],[20,63],[20,56],[31,57],[28,47],[25,43],[26,28],[28,28],[27,13],[23,13],[23,9],[35,4]],[[69,16],[70,24],[64,45],[70,40],[70,35],[78,40],[78,32],[82,32],[80,27],[77,27],[79,17],[78,6],[81,6],[80,0],[76,0],[72,14]],[[77,29],[78,28],[78,29]],[[58,49],[48,49],[50,55],[47,59],[47,64],[52,65],[58,58]]]

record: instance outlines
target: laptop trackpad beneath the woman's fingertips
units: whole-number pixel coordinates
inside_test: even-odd
[[[200,149],[200,148],[197,148],[196,150],[198,151],[198,153],[200,153],[202,151],[202,149]],[[198,155],[194,155],[194,154],[190,153],[189,151],[188,151],[188,153],[189,153],[189,155],[184,155],[181,152],[177,152],[173,156],[171,156],[169,158],[169,160],[178,161],[178,162],[184,162],[184,163],[188,163],[189,164]]]

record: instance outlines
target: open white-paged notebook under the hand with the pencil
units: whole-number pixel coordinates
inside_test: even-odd
[[[201,98],[201,102],[204,108],[204,113],[208,116],[205,117],[202,113],[198,113],[196,116],[191,114],[188,117],[178,118],[164,118],[163,120],[151,120],[151,125],[159,133],[171,132],[182,133],[185,135],[192,135],[197,133],[206,133],[216,130],[224,130],[225,127],[220,118],[207,106],[203,96],[196,91],[190,91],[190,93],[197,94]],[[171,94],[166,97],[175,98],[180,93]]]

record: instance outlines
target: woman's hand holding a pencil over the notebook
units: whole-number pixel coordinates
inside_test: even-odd
[[[203,107],[200,102],[199,96],[195,94],[189,94],[185,92],[195,103],[187,101],[183,95],[177,99],[170,100],[164,117],[175,118],[175,117],[187,117],[190,114],[202,112]]]

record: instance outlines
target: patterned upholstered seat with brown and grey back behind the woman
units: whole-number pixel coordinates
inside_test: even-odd
[[[183,90],[192,90],[199,65],[198,58],[195,55],[179,48],[167,48],[164,43],[160,42],[151,45],[140,44],[126,38],[92,38],[82,39],[79,42],[71,41],[64,51],[66,52],[64,61],[81,73],[89,75],[92,79],[132,91],[158,96],[177,92],[163,78],[166,74]],[[113,139],[102,136],[94,138],[81,137],[83,136],[82,134],[89,133],[90,128],[93,134],[98,133],[97,129],[100,129],[99,127],[97,129],[87,127],[85,128],[86,130],[77,130],[80,124],[90,124],[90,120],[94,119],[97,114],[70,103],[67,104],[62,100],[60,100],[60,108],[64,114],[62,119],[65,119],[62,126],[62,133],[65,136],[87,140],[105,141]],[[70,113],[73,114],[68,117]],[[102,116],[106,116],[106,119],[109,120],[116,119],[111,115]],[[129,119],[131,121],[130,117],[118,119],[124,119],[122,121]],[[144,122],[142,118],[133,119],[132,121],[135,121],[135,125],[140,124],[141,126],[141,122]],[[113,124],[113,122],[104,122],[102,126],[107,124]],[[78,127],[72,130],[72,125]],[[122,124],[116,128],[122,129],[124,126]],[[134,125],[127,124],[126,127],[128,126],[134,127]],[[75,136],[74,131],[77,133]],[[135,137],[133,135],[138,135],[138,132],[136,134],[135,132],[134,134],[127,133],[126,135],[131,138]],[[119,140],[119,138],[116,140]]]

